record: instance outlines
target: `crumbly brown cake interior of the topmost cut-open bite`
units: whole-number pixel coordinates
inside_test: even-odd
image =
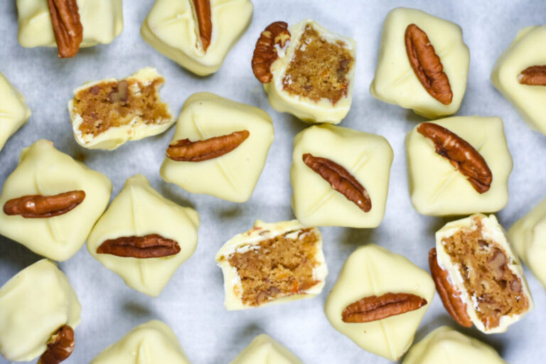
[[[314,101],[328,99],[335,105],[347,95],[347,74],[353,63],[345,43],[330,43],[307,25],[287,67],[282,87],[293,95]]]

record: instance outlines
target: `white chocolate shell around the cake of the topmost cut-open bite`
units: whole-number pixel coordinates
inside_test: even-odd
[[[291,95],[283,90],[282,80],[286,74],[287,67],[294,56],[294,51],[299,45],[299,38],[304,33],[305,27],[311,24],[313,28],[327,41],[342,41],[346,45],[346,49],[353,56],[353,66],[346,75],[349,80],[346,97],[342,97],[336,105],[333,105],[330,100],[321,99],[319,102],[310,100],[307,97],[299,95]],[[356,42],[352,38],[340,36],[336,33],[328,31],[319,23],[311,19],[306,19],[289,27],[291,40],[289,45],[284,50],[284,54],[279,53],[279,58],[271,65],[271,73],[273,79],[271,82],[264,84],[264,89],[269,96],[269,104],[278,112],[289,112],[295,117],[304,122],[330,123],[339,124],[350,109],[350,102],[353,100],[353,80],[355,77],[356,65]]]

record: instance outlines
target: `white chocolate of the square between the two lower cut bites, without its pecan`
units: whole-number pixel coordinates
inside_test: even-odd
[[[342,312],[353,302],[368,296],[406,293],[427,300],[421,308],[366,323],[346,323]],[[423,269],[402,255],[378,245],[365,245],[351,254],[339,274],[324,312],[337,331],[360,348],[392,361],[412,345],[417,326],[434,296],[434,282]]]

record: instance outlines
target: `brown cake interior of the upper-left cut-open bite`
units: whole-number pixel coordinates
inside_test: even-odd
[[[74,108],[83,122],[82,134],[96,137],[112,127],[129,124],[140,117],[144,124],[162,124],[171,119],[168,107],[159,98],[163,77],[146,84],[129,79],[101,82],[77,92]]]

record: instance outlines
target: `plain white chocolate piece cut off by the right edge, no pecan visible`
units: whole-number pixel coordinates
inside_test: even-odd
[[[546,288],[546,198],[512,225],[508,238],[525,265]]]

